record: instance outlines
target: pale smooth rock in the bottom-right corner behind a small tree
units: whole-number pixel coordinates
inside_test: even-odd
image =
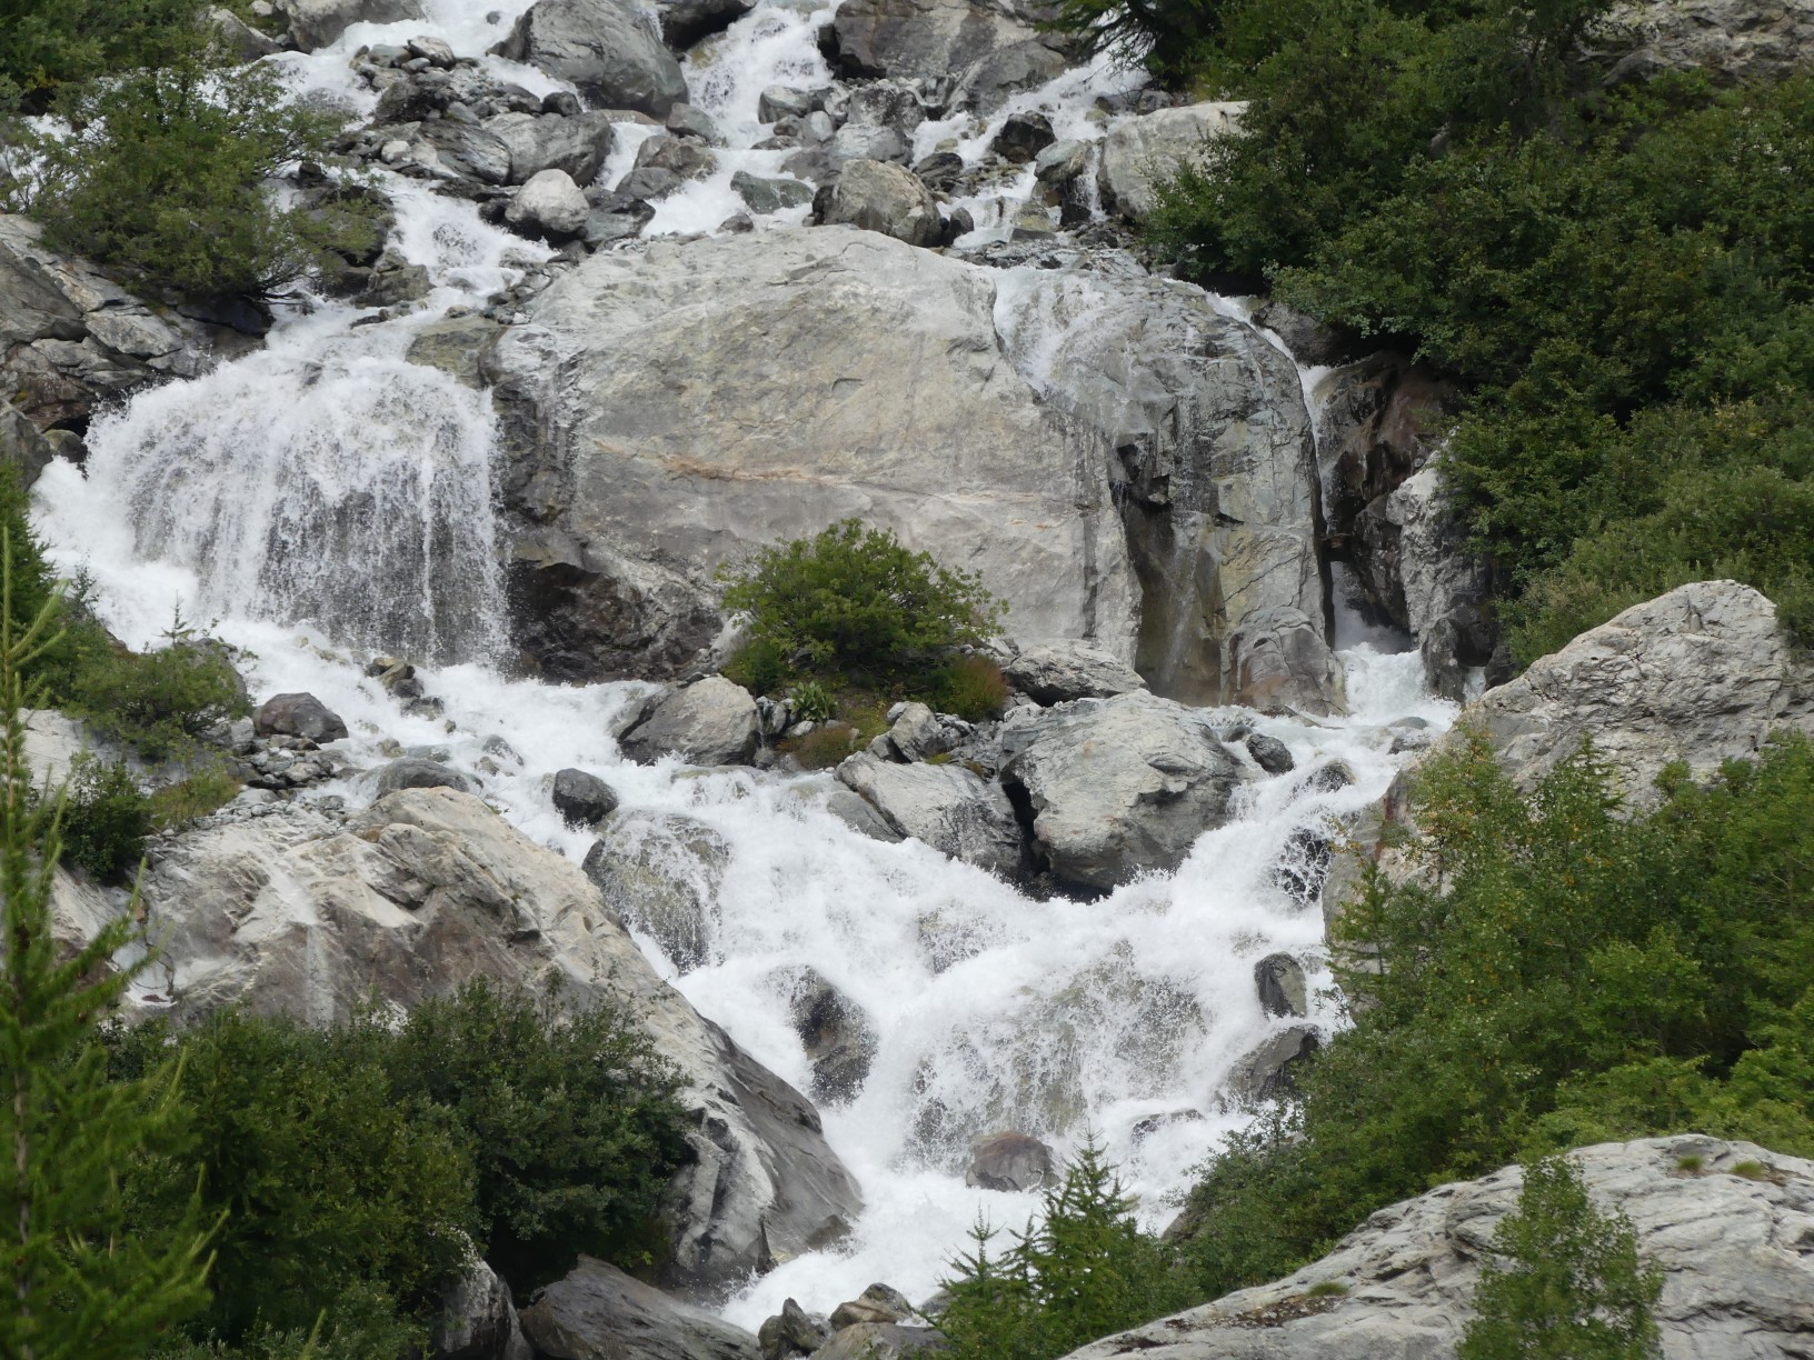
[[[1569,1153],[1595,1202],[1622,1209],[1638,1253],[1663,1268],[1656,1306],[1663,1360],[1789,1360],[1807,1353],[1814,1324],[1814,1162],[1749,1142],[1687,1133],[1602,1142]],[[1700,1157],[1702,1170],[1680,1170]],[[1761,1162],[1767,1179],[1732,1173]],[[1322,1260],[1273,1284],[1243,1289],[1105,1336],[1070,1360],[1453,1360],[1493,1229],[1517,1208],[1522,1168],[1462,1180],[1393,1204]],[[1275,1326],[1264,1309],[1339,1280],[1348,1293]]]

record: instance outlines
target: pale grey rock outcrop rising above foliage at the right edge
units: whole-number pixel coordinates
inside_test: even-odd
[[[1789,649],[1776,606],[1736,580],[1678,586],[1634,604],[1468,705],[1529,789],[1591,736],[1625,796],[1654,803],[1656,774],[1698,778],[1754,760],[1772,731],[1814,733],[1814,673]]]

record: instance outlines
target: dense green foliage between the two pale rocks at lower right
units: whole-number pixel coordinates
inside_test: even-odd
[[[1520,1155],[1682,1130],[1814,1151],[1814,747],[1673,774],[1634,816],[1607,791],[1591,753],[1529,798],[1482,738],[1426,763],[1426,874],[1373,876],[1337,928],[1353,1028],[1197,1188],[1203,1297]]]

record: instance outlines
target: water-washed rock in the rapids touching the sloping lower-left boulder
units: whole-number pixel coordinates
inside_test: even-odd
[[[711,912],[731,847],[677,812],[619,812],[586,852],[584,872],[626,925],[651,936],[678,972],[711,957]]]

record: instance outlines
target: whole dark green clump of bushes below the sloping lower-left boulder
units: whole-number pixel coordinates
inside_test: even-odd
[[[181,1059],[183,1137],[132,1179],[134,1224],[198,1177],[219,1219],[212,1298],[172,1355],[397,1360],[473,1246],[526,1291],[580,1251],[660,1248],[660,1188],[688,1155],[673,1073],[629,1017],[472,983],[401,1025],[227,1010],[118,1028],[112,1072]]]

